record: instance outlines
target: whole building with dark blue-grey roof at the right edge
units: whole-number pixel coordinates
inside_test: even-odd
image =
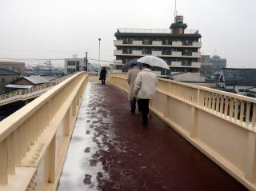
[[[256,69],[224,68],[219,86],[226,91],[246,95],[246,90],[256,86]]]

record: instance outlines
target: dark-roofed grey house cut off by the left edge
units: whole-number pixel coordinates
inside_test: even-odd
[[[6,93],[6,85],[20,78],[21,74],[0,68],[0,94]]]

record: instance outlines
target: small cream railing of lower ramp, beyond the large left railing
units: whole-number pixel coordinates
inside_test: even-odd
[[[46,91],[50,90],[50,88],[58,85],[60,82],[62,82],[63,80],[69,77],[70,75],[62,78],[58,78],[54,80],[54,82],[33,86],[30,89],[16,90],[16,91],[10,92],[9,94],[3,94],[0,96],[0,105],[6,105],[10,102],[18,101],[18,100],[26,100],[27,98],[30,98],[30,97],[37,97],[38,95],[45,93]]]

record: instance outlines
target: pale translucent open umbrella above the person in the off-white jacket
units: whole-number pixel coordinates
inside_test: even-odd
[[[170,70],[170,67],[166,64],[166,62],[163,59],[155,56],[145,56],[145,57],[139,58],[137,62],[148,64],[150,66],[163,68],[166,70]]]

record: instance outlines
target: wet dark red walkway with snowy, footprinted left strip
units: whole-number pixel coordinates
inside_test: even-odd
[[[58,190],[247,190],[154,113],[142,128],[126,93],[90,82]]]

